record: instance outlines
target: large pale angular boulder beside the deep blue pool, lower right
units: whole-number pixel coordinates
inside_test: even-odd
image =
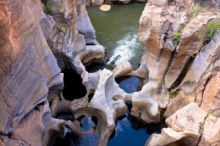
[[[197,145],[206,114],[196,103],[183,107],[166,119],[168,128],[163,128],[161,134],[151,135],[145,146]]]

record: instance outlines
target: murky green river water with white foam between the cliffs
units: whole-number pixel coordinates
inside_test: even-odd
[[[145,4],[114,5],[103,12],[88,7],[87,12],[96,30],[97,41],[106,48],[107,64],[117,60],[129,61],[134,70],[139,66],[143,50],[139,43],[139,18]]]

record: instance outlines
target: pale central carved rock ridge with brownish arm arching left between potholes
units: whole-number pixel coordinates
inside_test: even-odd
[[[73,101],[57,97],[53,99],[51,109],[54,117],[63,112],[72,113],[76,119],[82,115],[97,117],[96,131],[100,134],[98,145],[104,146],[114,131],[115,121],[127,110],[123,99],[129,95],[119,88],[111,71],[104,69],[96,76],[96,80],[92,80],[95,93],[90,102],[87,96]]]

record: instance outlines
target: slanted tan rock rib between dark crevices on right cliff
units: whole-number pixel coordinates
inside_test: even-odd
[[[184,67],[187,66],[187,62],[190,63],[190,57],[193,56],[193,54],[196,54],[202,48],[205,41],[207,25],[213,18],[215,18],[215,16],[213,16],[211,12],[201,13],[192,18],[184,28],[180,43],[176,49],[175,58],[165,76],[165,84],[167,88],[171,88],[173,84],[176,86],[175,84],[177,83],[175,83],[175,81],[178,80],[178,77],[182,77],[181,72],[184,72]],[[193,28],[190,26],[193,26]],[[199,33],[203,34],[200,36],[200,38]],[[216,41],[214,42],[217,43]],[[213,43],[210,45],[215,45]],[[217,46],[215,46],[213,49],[218,50]]]

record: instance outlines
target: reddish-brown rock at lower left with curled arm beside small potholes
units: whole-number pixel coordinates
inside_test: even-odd
[[[62,127],[63,125],[68,126],[72,132],[80,135],[92,132],[83,132],[78,123],[52,118],[49,104],[45,101],[20,121],[10,139],[15,141],[15,145],[22,143],[36,146],[52,145],[55,137],[65,136],[66,132]],[[22,141],[17,141],[18,139]],[[9,144],[5,143],[5,145],[10,144],[11,142]]]

